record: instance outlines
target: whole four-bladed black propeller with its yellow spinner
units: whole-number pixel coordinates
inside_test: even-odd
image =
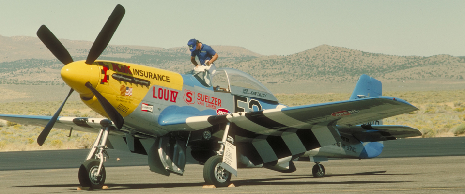
[[[115,9],[109,16],[107,22],[105,23],[102,30],[98,34],[97,38],[93,42],[93,45],[89,51],[85,64],[89,64],[89,65],[93,64],[95,60],[97,60],[97,58],[102,54],[105,48],[107,48],[111,40],[111,37],[113,37],[113,34],[115,33],[116,29],[118,28],[118,25],[123,19],[125,12],[126,11],[122,5],[120,4],[116,5]],[[58,40],[58,38],[47,28],[47,26],[42,25],[37,31],[37,36],[44,43],[44,45],[50,50],[50,52],[52,52],[52,54],[55,55],[55,57],[58,60],[60,60],[64,65],[68,66],[68,64],[73,63],[73,58],[69,54],[68,50],[64,48],[60,40]],[[82,63],[79,63],[79,64],[82,64]],[[71,66],[74,66],[74,65],[70,65],[70,67]],[[92,67],[90,69],[92,69]],[[63,80],[66,83],[68,83],[68,81],[73,82],[74,80],[79,80],[79,81],[74,81],[74,82],[80,83],[78,87],[75,89],[80,93],[84,91],[85,88],[89,89],[91,91],[91,93],[89,94],[95,95],[95,97],[97,97],[99,103],[102,105],[107,115],[109,115],[110,119],[115,123],[116,127],[118,129],[121,129],[124,124],[123,116],[121,116],[121,114],[118,113],[118,111],[116,111],[116,109],[108,102],[107,99],[105,99],[105,97],[103,97],[97,90],[95,90],[95,88],[93,88],[90,82],[87,82],[87,81],[85,83],[80,82],[83,79],[85,79],[85,77],[82,77],[80,75],[85,75],[85,74],[82,74],[82,72],[72,72],[72,70],[80,71],[81,69],[66,68],[65,69],[66,75],[63,74],[63,69],[62,69]],[[70,76],[70,75],[73,75],[73,76]],[[69,84],[69,85],[76,85],[76,84]],[[62,112],[63,106],[66,103],[66,100],[68,100],[68,97],[73,93],[75,89],[71,88],[68,96],[64,99],[60,108],[52,116],[50,121],[47,123],[47,126],[40,133],[39,137],[37,138],[37,143],[40,146],[44,144],[45,140],[47,139],[48,134],[50,133],[50,130],[53,128],[53,125],[57,121],[58,116]]]

